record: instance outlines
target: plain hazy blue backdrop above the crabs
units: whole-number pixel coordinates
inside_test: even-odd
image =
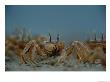
[[[25,28],[32,35],[57,34],[61,40],[93,39],[94,34],[106,37],[105,5],[6,5],[5,34],[13,34],[15,28]],[[104,37],[104,39],[105,39]]]

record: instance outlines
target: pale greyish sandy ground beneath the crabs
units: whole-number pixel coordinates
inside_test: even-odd
[[[5,57],[5,71],[106,71],[101,64],[77,63],[74,57],[63,63],[56,64],[58,57],[49,57],[36,65],[19,64],[17,57]]]

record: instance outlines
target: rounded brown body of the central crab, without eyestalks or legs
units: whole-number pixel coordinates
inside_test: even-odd
[[[48,56],[60,55],[64,49],[63,42],[45,42],[39,45],[42,51]]]

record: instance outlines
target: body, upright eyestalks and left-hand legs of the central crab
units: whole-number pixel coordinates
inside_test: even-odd
[[[50,34],[49,36],[49,41],[40,43],[36,40],[29,41],[21,53],[21,63],[30,62],[31,64],[36,64],[37,55],[47,57],[59,56],[64,49],[64,42],[59,41],[59,35],[57,35],[57,41],[52,41]]]

